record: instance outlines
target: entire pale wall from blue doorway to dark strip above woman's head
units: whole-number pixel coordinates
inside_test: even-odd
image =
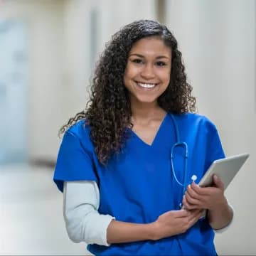
[[[28,159],[54,162],[58,129],[85,108],[98,53],[121,26],[155,11],[153,0],[9,0],[0,17],[28,31]]]

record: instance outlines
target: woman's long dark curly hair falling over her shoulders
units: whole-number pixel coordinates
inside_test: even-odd
[[[187,82],[181,52],[173,34],[157,21],[129,23],[114,33],[100,55],[87,108],[60,128],[61,134],[80,119],[85,119],[85,125],[90,125],[90,139],[97,158],[102,164],[107,164],[112,154],[119,153],[129,137],[127,127],[132,127],[132,111],[129,93],[124,87],[124,70],[134,43],[149,36],[159,36],[172,53],[170,82],[158,98],[159,106],[166,112],[178,114],[196,111],[196,98],[191,95],[192,87]]]

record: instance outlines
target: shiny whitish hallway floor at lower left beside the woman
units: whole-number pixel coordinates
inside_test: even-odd
[[[0,255],[90,255],[65,231],[53,170],[0,166]]]

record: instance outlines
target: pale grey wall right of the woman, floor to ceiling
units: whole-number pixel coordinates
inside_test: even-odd
[[[256,1],[166,1],[167,25],[183,53],[198,112],[215,122],[227,156],[250,153],[228,187],[230,229],[216,235],[220,255],[255,255]]]

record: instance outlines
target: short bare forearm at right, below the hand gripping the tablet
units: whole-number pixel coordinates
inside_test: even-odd
[[[233,218],[233,209],[225,201],[213,210],[208,210],[208,221],[214,230],[225,228]]]

